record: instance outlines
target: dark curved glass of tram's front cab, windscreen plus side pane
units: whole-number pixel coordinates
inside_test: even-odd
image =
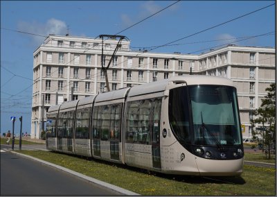
[[[170,107],[173,108],[169,108],[170,125],[177,139],[207,146],[241,144],[238,103],[234,87],[195,85],[172,89],[171,96],[173,97],[170,98]],[[191,114],[188,110],[188,101],[191,102]],[[189,127],[189,123],[193,123],[193,126]],[[189,132],[190,128],[193,128],[192,132]],[[189,136],[189,139],[186,136]]]

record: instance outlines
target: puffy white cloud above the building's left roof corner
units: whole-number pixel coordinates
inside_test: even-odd
[[[47,36],[49,34],[65,35],[67,31],[66,23],[58,19],[48,19],[46,24],[40,24],[38,22],[19,22],[17,24],[19,31],[27,33],[33,33],[37,35]],[[45,40],[45,37],[33,36],[33,44],[40,45]]]

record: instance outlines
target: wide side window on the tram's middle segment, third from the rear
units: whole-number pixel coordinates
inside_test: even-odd
[[[82,108],[76,112],[76,139],[89,139],[89,115],[91,108]]]

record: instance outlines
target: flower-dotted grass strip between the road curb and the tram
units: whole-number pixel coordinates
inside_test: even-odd
[[[275,195],[275,169],[244,166],[236,178],[162,175],[139,169],[45,151],[18,151],[109,182],[141,195]]]

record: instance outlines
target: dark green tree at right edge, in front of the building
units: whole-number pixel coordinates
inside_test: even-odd
[[[275,148],[275,137],[276,137],[276,129],[275,129],[275,119],[276,119],[276,84],[271,83],[270,87],[265,89],[267,91],[267,96],[262,99],[262,104],[258,110],[255,110],[254,115],[256,116],[255,119],[251,120],[253,126],[256,123],[262,123],[262,147],[264,145],[267,147],[265,153],[269,154],[270,159],[270,151],[272,144]],[[265,124],[267,127],[265,127]],[[257,130],[256,130],[257,132]],[[255,132],[253,133],[255,134]],[[264,148],[262,148],[264,151]]]

